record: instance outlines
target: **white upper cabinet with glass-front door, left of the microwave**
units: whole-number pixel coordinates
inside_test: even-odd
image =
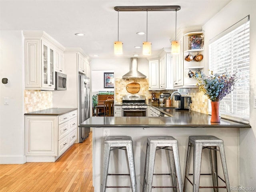
[[[64,69],[65,48],[43,31],[24,31],[23,35],[25,89],[54,90],[56,64],[59,71]]]

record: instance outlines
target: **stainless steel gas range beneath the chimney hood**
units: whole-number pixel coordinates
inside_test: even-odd
[[[146,97],[142,95],[126,95],[122,97],[122,116],[147,116]]]

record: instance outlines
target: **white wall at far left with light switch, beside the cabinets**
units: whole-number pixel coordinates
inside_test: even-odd
[[[22,31],[1,31],[0,40],[0,164],[23,164],[24,39]],[[2,84],[2,78],[8,83]]]

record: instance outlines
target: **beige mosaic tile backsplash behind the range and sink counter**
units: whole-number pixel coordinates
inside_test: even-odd
[[[148,90],[148,79],[141,78],[132,78],[132,79],[115,79],[115,103],[122,103],[122,96],[130,94],[126,90],[126,85],[132,82],[137,82],[140,84],[140,91],[137,93],[138,95],[146,96],[146,103],[148,103],[148,99],[151,99],[151,93],[154,92],[156,98],[160,98],[161,93],[170,93],[177,90],[158,90],[158,91],[149,91]],[[191,110],[208,114],[208,98],[204,96],[202,92],[198,90],[198,88],[188,88],[188,95],[192,98]],[[185,95],[184,95],[185,96]],[[178,101],[174,101],[172,98],[172,105],[178,107]]]

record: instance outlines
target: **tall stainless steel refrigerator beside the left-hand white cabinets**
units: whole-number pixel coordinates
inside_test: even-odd
[[[79,74],[79,124],[90,117],[90,78]],[[79,128],[79,142],[89,136],[90,128]]]

